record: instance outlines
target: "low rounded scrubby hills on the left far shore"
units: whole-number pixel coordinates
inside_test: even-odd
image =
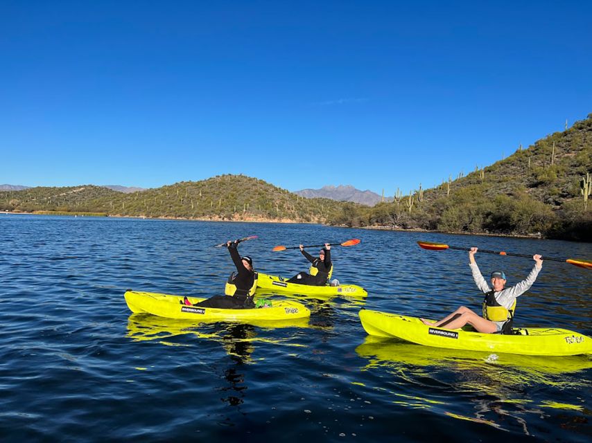
[[[324,222],[342,212],[342,206],[329,199],[305,199],[243,175],[184,181],[129,194],[91,185],[0,192],[0,210],[134,217]]]

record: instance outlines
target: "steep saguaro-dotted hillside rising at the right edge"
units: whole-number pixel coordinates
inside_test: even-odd
[[[592,114],[493,165],[331,222],[592,241],[592,204],[582,193],[589,173]]]

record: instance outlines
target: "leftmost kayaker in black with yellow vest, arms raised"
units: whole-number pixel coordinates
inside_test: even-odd
[[[236,273],[232,273],[227,287],[232,287],[233,293],[229,296],[213,296],[193,306],[218,307],[223,309],[250,309],[254,308],[253,293],[256,287],[256,272],[253,270],[253,260],[245,255],[238,255],[238,240],[226,243],[230,257],[236,266]],[[235,289],[236,288],[236,289]],[[190,303],[191,304],[191,303]]]

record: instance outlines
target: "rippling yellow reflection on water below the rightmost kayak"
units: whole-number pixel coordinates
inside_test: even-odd
[[[455,419],[489,424],[496,428],[520,428],[530,435],[526,416],[543,417],[543,408],[566,411],[566,423],[587,422],[589,411],[582,404],[591,381],[586,370],[592,368],[589,356],[522,356],[462,350],[447,350],[367,336],[356,347],[367,360],[363,371],[387,371],[396,375],[395,389],[384,388],[394,403],[425,408]],[[534,386],[569,396],[573,404],[552,404],[539,399]],[[400,392],[411,389],[413,394]],[[459,399],[464,402],[459,402]],[[466,404],[463,404],[466,403]],[[467,415],[472,404],[474,415]],[[575,416],[575,417],[574,417]],[[507,429],[508,430],[508,429]]]

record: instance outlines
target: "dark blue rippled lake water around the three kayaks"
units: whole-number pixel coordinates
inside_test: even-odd
[[[277,244],[335,248],[334,277],[365,301],[302,298],[306,327],[192,325],[130,316],[125,289],[221,293],[227,239],[259,271],[306,269]],[[0,440],[587,442],[591,360],[444,352],[368,338],[361,307],[438,317],[479,309],[467,255],[418,239],[516,253],[592,258],[570,242],[352,230],[309,225],[0,215]],[[478,254],[510,284],[532,260]],[[592,272],[546,262],[517,323],[592,335]],[[312,441],[312,440],[310,440]]]

